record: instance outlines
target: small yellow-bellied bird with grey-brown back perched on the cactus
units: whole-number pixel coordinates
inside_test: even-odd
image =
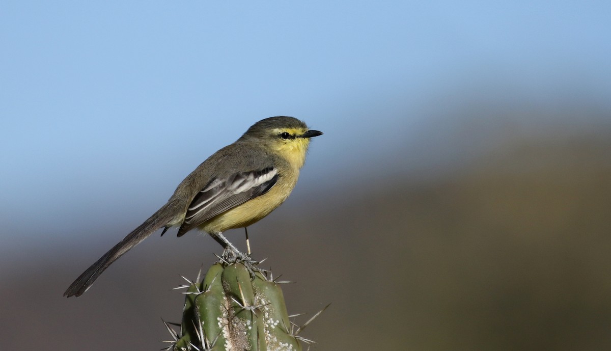
[[[112,262],[161,227],[163,235],[178,226],[178,237],[198,228],[219,242],[225,253],[249,259],[222,232],[247,227],[282,204],[297,183],[310,138],[322,134],[293,117],[258,121],[240,139],[203,161],[161,209],[87,268],[64,296],[82,295]]]

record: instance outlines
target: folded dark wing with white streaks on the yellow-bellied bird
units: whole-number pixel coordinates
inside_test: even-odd
[[[224,179],[214,178],[189,204],[177,235],[181,237],[210,218],[267,193],[277,180],[278,170],[271,166],[234,173]]]

